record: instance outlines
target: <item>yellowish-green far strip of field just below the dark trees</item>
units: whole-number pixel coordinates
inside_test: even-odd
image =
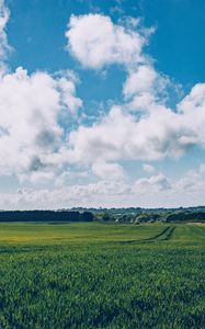
[[[68,243],[95,241],[126,241],[152,238],[162,232],[162,225],[123,225],[123,224],[0,224],[0,243]]]

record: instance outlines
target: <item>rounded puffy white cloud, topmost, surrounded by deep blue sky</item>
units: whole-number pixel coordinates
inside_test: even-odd
[[[67,48],[84,67],[132,66],[145,60],[141,48],[146,38],[132,29],[114,24],[109,16],[72,15],[68,27]]]

